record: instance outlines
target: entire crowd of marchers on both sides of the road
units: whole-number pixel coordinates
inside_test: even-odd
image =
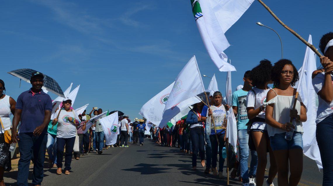
[[[323,164],[323,185],[333,184],[332,46],[333,33],[323,35],[319,45],[325,55],[320,58],[323,67],[314,71],[312,76],[319,99],[316,137]],[[32,183],[41,185],[46,150],[50,166],[57,167],[57,174],[62,174],[63,170],[65,174],[70,174],[73,155],[79,160],[81,155],[102,154],[103,149],[109,147],[129,147],[128,138],[130,143],[137,144],[139,141],[140,145],[144,145],[147,130],[145,120],[136,118],[131,122],[128,115],[120,117],[117,142],[107,146],[98,120],[89,129],[86,127],[92,118],[91,114],[97,116],[103,113],[102,109],[92,109],[89,114],[84,111],[78,115],[71,109],[72,100],[68,98],[63,99],[57,117],[51,120],[53,105],[50,96],[41,89],[43,78],[42,73],[32,73],[32,88],[21,93],[16,101],[5,94],[5,82],[0,80],[0,186],[4,185],[4,171],[10,169],[11,144],[15,146],[18,143],[21,155],[17,185],[28,185],[31,160],[34,163]],[[228,156],[231,177],[239,176],[238,180],[242,181],[243,186],[272,186],[276,175],[278,185],[296,186],[303,169],[302,122],[307,120],[302,98],[295,99],[297,93],[293,86],[298,79],[297,69],[290,60],[281,59],[274,65],[269,60],[262,60],[244,73],[244,84],[232,94],[231,107],[222,103],[220,92],[211,91],[209,103],[202,101],[192,105],[188,114],[174,126],[160,128],[152,125],[151,139],[161,146],[178,147],[181,152],[192,154],[194,170],[199,157],[201,166],[206,167],[204,173],[212,172],[219,178],[224,178],[223,165]],[[273,88],[268,84],[273,84]],[[237,151],[229,147],[227,154],[225,134],[229,109],[237,116],[238,139]],[[14,115],[12,122],[9,118],[11,113]],[[18,125],[19,132],[11,130],[12,143],[8,141],[10,129],[16,129]],[[268,178],[264,179],[267,153],[270,167]],[[248,168],[249,154],[251,162]]]

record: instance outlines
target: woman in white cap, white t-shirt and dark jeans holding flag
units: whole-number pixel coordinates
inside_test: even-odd
[[[76,127],[80,126],[81,120],[74,109],[71,109],[72,100],[63,99],[63,108],[59,110],[58,117],[53,119],[54,123],[58,122],[57,127],[57,174],[62,174],[62,161],[65,152],[65,174],[70,174],[73,147],[75,143]]]

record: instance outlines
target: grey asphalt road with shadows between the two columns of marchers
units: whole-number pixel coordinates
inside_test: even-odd
[[[72,160],[70,175],[57,175],[57,168],[45,168],[42,185],[226,185],[226,166],[224,179],[204,174],[198,160],[197,170],[191,168],[191,155],[180,153],[178,148],[161,147],[150,139],[145,145],[129,144],[128,148],[109,148],[102,155],[89,154],[80,160]],[[300,186],[319,186],[322,173],[314,160],[303,156],[304,167]],[[269,161],[268,161],[269,162]],[[47,163],[46,163],[47,165]],[[269,164],[267,165],[267,169]],[[29,184],[31,184],[32,168]],[[268,172],[266,172],[267,176]],[[17,171],[6,172],[6,185],[16,185]],[[230,178],[230,185],[242,185]],[[277,178],[274,179],[277,186]]]

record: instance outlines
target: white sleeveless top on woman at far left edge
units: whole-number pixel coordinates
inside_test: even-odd
[[[5,95],[4,98],[0,99],[0,117],[4,129],[0,125],[0,133],[3,134],[5,130],[9,130],[12,126],[12,122],[10,121],[10,115],[12,114],[10,111],[10,103],[9,103],[9,95]]]

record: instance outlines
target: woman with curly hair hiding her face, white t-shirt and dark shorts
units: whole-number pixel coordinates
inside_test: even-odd
[[[252,122],[251,137],[254,148],[258,154],[258,166],[256,172],[257,185],[263,185],[265,168],[267,164],[267,150],[269,151],[270,167],[268,171],[268,178],[266,184],[273,183],[273,179],[277,173],[275,157],[270,147],[269,137],[267,133],[267,125],[265,122],[265,107],[266,96],[271,89],[268,84],[272,84],[271,70],[272,64],[267,59],[260,61],[260,64],[254,67],[250,74],[249,79],[252,81],[254,87],[247,93],[247,117]],[[252,141],[250,143],[252,143]],[[254,149],[252,149],[254,150]],[[253,180],[252,180],[253,179]],[[254,182],[254,178],[250,178],[250,184]]]

